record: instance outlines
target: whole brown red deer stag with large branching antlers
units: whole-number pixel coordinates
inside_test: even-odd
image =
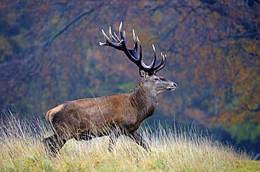
[[[170,80],[157,76],[157,72],[164,68],[166,55],[162,55],[160,64],[156,65],[155,47],[152,45],[154,58],[150,65],[142,61],[141,42],[134,34],[134,49],[126,47],[126,34],[122,31],[122,22],[119,26],[119,37],[109,37],[102,30],[105,43],[125,53],[131,62],[139,67],[141,80],[130,92],[112,94],[99,98],[79,99],[67,101],[56,108],[48,110],[46,120],[51,125],[54,134],[44,138],[46,150],[56,155],[58,150],[71,138],[89,141],[91,138],[110,136],[108,150],[112,150],[117,138],[124,134],[131,137],[138,145],[149,151],[149,145],[138,132],[141,122],[152,116],[157,107],[157,95],[169,90],[175,90],[177,85]],[[140,52],[138,54],[138,47]]]

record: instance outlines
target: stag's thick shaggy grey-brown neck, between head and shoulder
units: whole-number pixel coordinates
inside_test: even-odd
[[[143,83],[139,81],[135,89],[130,92],[131,105],[136,108],[138,115],[143,119],[152,116],[157,107],[157,94]]]

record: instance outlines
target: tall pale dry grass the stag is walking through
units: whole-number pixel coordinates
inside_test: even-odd
[[[195,129],[144,131],[149,153],[124,136],[112,152],[108,137],[70,140],[56,158],[46,156],[41,143],[50,130],[41,120],[27,122],[8,115],[0,129],[0,171],[260,171],[260,163],[249,161],[244,152],[213,142]]]

